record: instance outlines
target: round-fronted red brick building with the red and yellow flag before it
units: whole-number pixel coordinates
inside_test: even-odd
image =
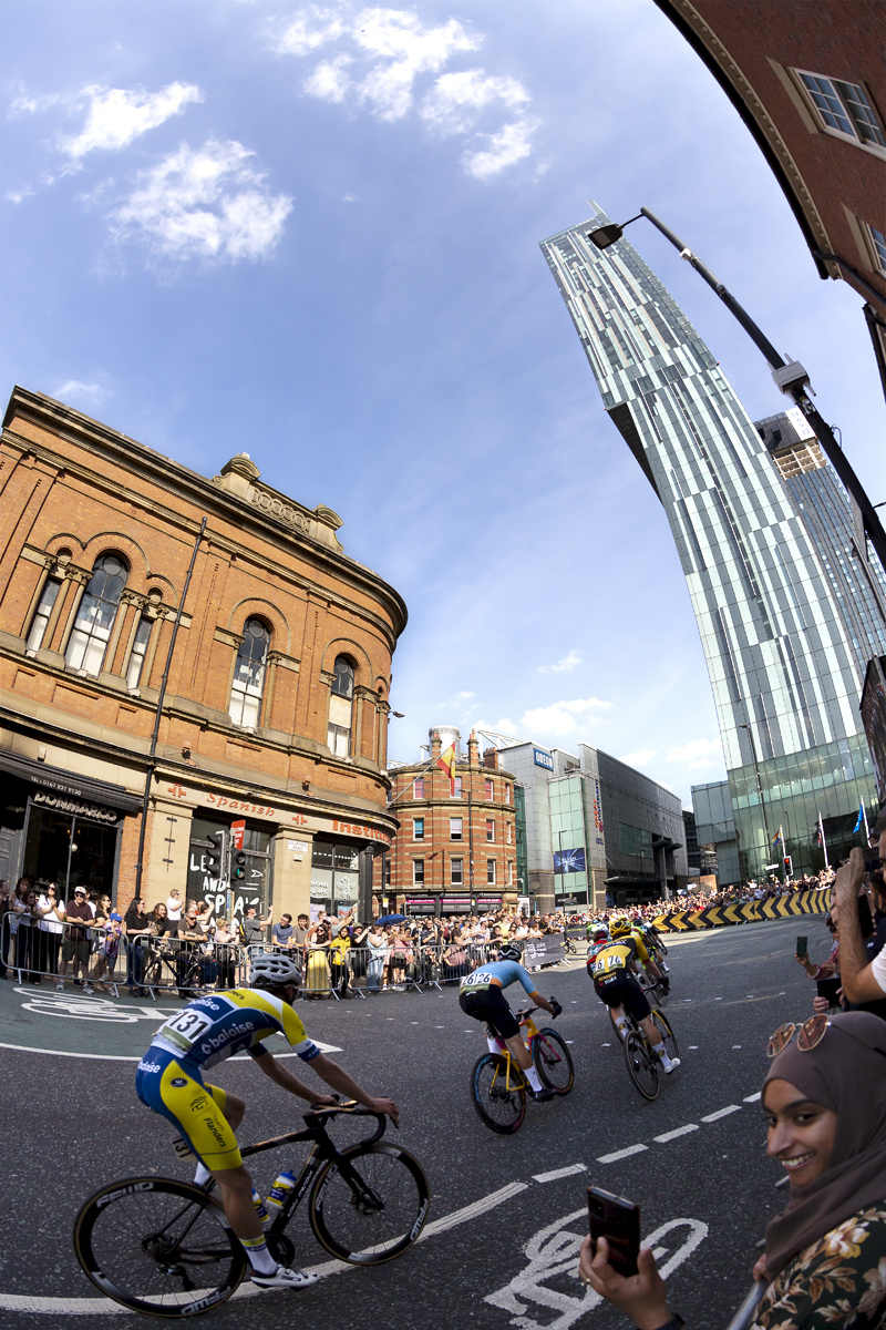
[[[376,870],[385,911],[450,915],[517,906],[514,777],[499,769],[495,749],[480,761],[472,732],[468,758],[457,761],[450,782],[436,762],[441,749],[458,739],[450,726],[432,729],[432,765],[416,762],[389,773],[391,811],[400,830],[384,868]]]

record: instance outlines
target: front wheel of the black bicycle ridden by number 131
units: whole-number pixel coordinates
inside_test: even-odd
[[[351,1265],[381,1265],[416,1241],[430,1204],[418,1160],[399,1145],[352,1145],[317,1173],[308,1213],[315,1237]]]

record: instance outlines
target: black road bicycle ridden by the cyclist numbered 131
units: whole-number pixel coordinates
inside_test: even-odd
[[[347,1113],[375,1117],[373,1136],[339,1150],[327,1125]],[[268,1250],[290,1265],[286,1228],[308,1196],[313,1236],[349,1265],[380,1265],[418,1238],[430,1193],[421,1164],[383,1141],[385,1117],[353,1103],[315,1108],[306,1130],[287,1132],[240,1150],[243,1158],[296,1141],[313,1149],[264,1229]],[[182,1157],[191,1156],[182,1142]],[[310,1194],[308,1194],[310,1193]],[[169,1177],[126,1177],[90,1196],[74,1221],[74,1250],[92,1282],[114,1302],[155,1317],[193,1317],[226,1302],[248,1261],[218,1200],[206,1186]]]

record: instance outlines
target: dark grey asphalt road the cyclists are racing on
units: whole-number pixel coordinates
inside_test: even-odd
[[[575,1277],[587,1232],[586,1188],[639,1202],[644,1242],[668,1278],[669,1301],[689,1330],[724,1327],[751,1286],[754,1246],[786,1190],[765,1154],[758,1091],[768,1036],[812,1011],[814,984],[797,966],[797,931],[824,959],[830,938],[817,916],[692,934],[669,942],[672,996],[665,1011],[683,1065],[647,1103],[631,1085],[608,1016],[583,963],[545,972],[539,990],[563,1013],[575,1088],[527,1104],[511,1137],[489,1132],[469,1100],[484,1052],[480,1025],[453,990],[383,994],[367,1001],[298,1004],[308,1032],[371,1093],[392,1096],[401,1129],[389,1137],[428,1174],[430,1220],[422,1241],[396,1261],[360,1269],[331,1261],[296,1213],[296,1262],[324,1278],[303,1293],[243,1286],[199,1318],[206,1330],[426,1330],[458,1322],[477,1330],[615,1330],[631,1322],[600,1305]],[[0,1274],[5,1330],[150,1322],[97,1297],[70,1241],[74,1216],[98,1186],[137,1174],[189,1177],[169,1125],[137,1101],[135,1061],[153,1031],[182,1003],[84,998],[70,988],[0,984],[0,1113],[8,1222]],[[519,999],[514,999],[519,1004]],[[286,1052],[283,1040],[272,1051]],[[292,1071],[296,1068],[287,1063]],[[312,1073],[304,1069],[304,1079]],[[248,1059],[213,1080],[248,1104],[240,1140],[300,1125],[298,1103]],[[340,1144],[359,1120],[333,1128]],[[367,1128],[363,1127],[363,1132]],[[256,1185],[298,1166],[304,1148],[260,1156]],[[341,1282],[339,1282],[339,1278]]]

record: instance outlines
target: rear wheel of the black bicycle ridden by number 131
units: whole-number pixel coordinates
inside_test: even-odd
[[[104,1294],[154,1317],[193,1317],[226,1302],[246,1253],[199,1186],[128,1177],[104,1186],[74,1220],[74,1252]]]

